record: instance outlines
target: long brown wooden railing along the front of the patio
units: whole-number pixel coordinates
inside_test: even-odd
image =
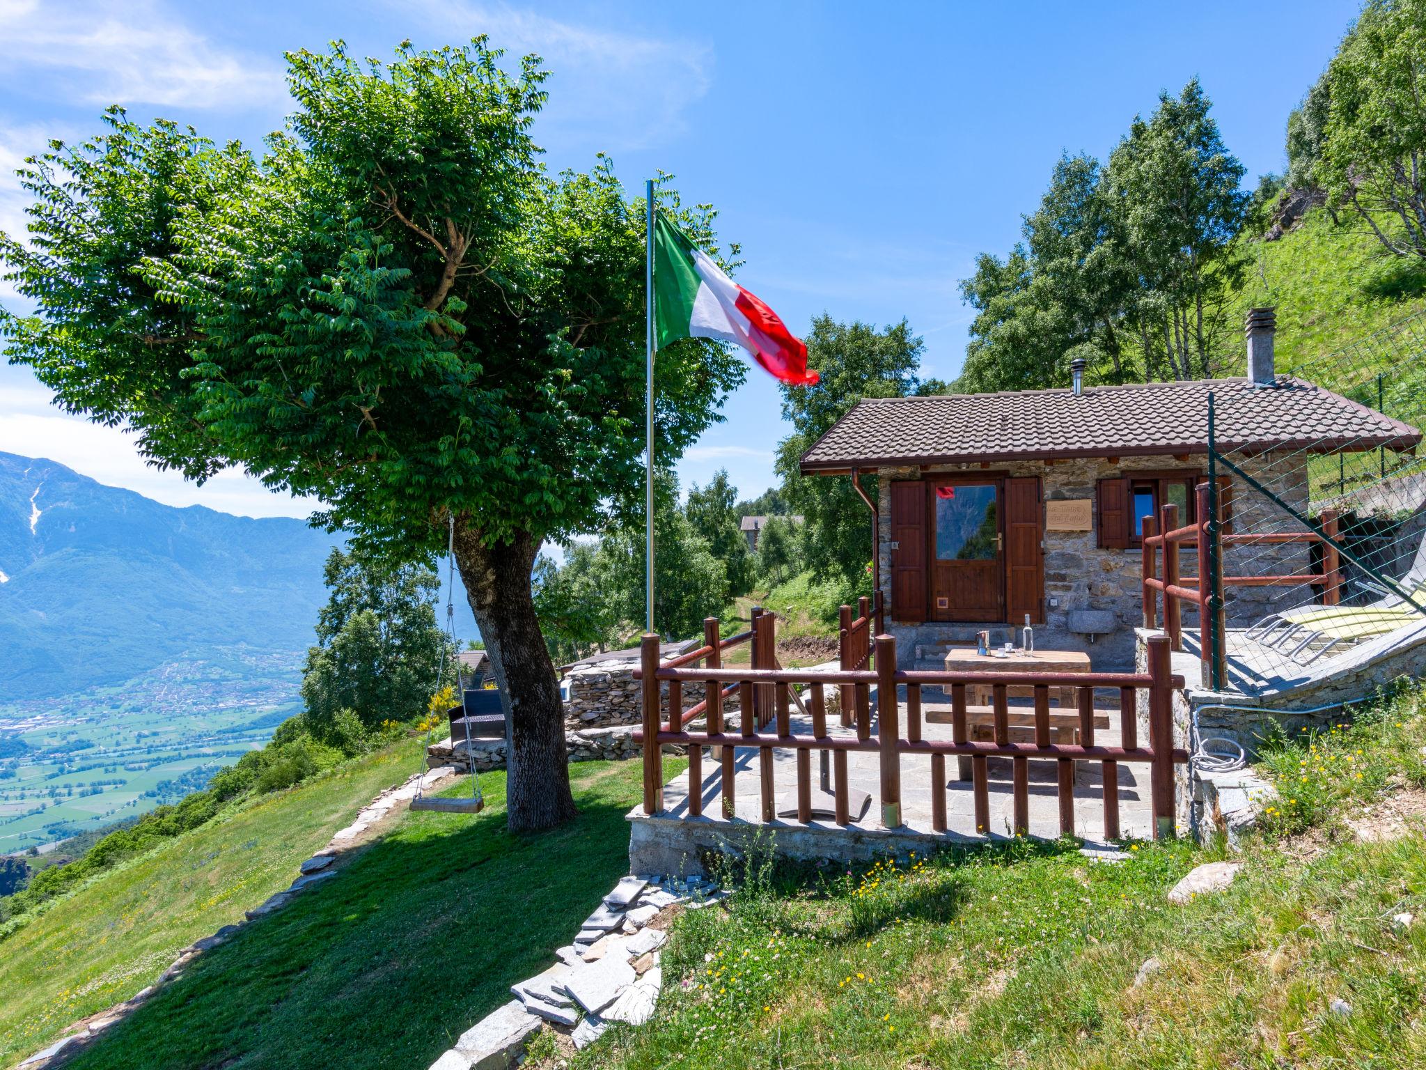
[[[866,606],[861,606],[866,611]],[[861,616],[867,616],[866,612]],[[856,623],[856,622],[853,622]],[[759,636],[771,636],[776,629],[771,613],[754,619],[754,652],[759,651]],[[846,629],[853,632],[854,629]],[[764,638],[761,642],[771,643]],[[945,759],[965,756],[971,760],[971,792],[974,796],[975,829],[990,832],[990,788],[987,762],[991,758],[1010,758],[1012,766],[1012,830],[1027,833],[1030,829],[1030,760],[1051,759],[1057,762],[1057,792],[1060,800],[1060,832],[1074,835],[1074,763],[1099,762],[1104,769],[1104,835],[1119,836],[1118,763],[1144,762],[1149,765],[1151,802],[1156,836],[1172,835],[1174,829],[1174,765],[1188,760],[1186,752],[1172,745],[1172,689],[1182,686],[1182,678],[1175,678],[1169,668],[1169,645],[1164,636],[1149,639],[1148,672],[1142,673],[951,673],[951,672],[904,672],[897,669],[896,641],[878,635],[874,641],[876,668],[836,669],[771,669],[732,668],[716,663],[719,651],[706,642],[702,651],[694,651],[680,659],[682,663],[659,665],[659,636],[646,635],[642,641],[640,668],[635,678],[643,682],[643,723],[636,739],[643,745],[643,810],[653,815],[663,810],[663,745],[687,748],[689,752],[689,795],[687,812],[699,816],[703,806],[702,749],[713,748],[720,755],[719,796],[724,817],[734,816],[736,778],[734,753],[737,748],[756,748],[759,753],[759,815],[763,822],[776,820],[773,752],[790,749],[797,756],[797,812],[796,822],[811,820],[811,752],[830,752],[834,762],[833,795],[834,820],[850,825],[847,806],[847,755],[851,752],[876,752],[878,755],[878,795],[881,803],[881,825],[901,825],[901,759],[904,755],[928,755],[931,762],[930,798],[931,827],[947,829]],[[702,668],[692,665],[700,655]],[[709,659],[713,661],[709,661]],[[686,729],[687,713],[682,709],[682,688],[687,682],[703,682],[710,705],[704,732]],[[667,709],[662,706],[660,682],[667,683]],[[793,732],[791,689],[799,685],[810,688],[811,732]],[[871,685],[877,688],[876,735],[861,732],[861,716],[857,715],[856,736],[831,736],[827,732],[826,685],[853,689],[866,695]],[[994,695],[994,738],[973,740],[967,718],[965,688],[988,685]],[[906,725],[903,732],[901,703],[897,689],[907,691]],[[951,739],[925,739],[921,725],[921,689],[943,688],[951,695],[953,728]],[[1034,695],[1034,742],[1012,743],[1010,740],[1008,691],[1028,686]],[[717,698],[732,689],[740,693],[739,730],[729,730]],[[1051,743],[1050,689],[1077,688],[1079,715],[1079,743]],[[1111,688],[1119,695],[1119,746],[1098,746],[1094,742],[1094,691]],[[1139,746],[1138,740],[1138,692],[1148,692],[1149,743]],[[769,722],[761,720],[759,693],[770,696],[771,713]],[[854,702],[860,702],[854,698]],[[870,703],[868,703],[870,705]],[[870,718],[870,715],[868,715]],[[776,720],[773,732],[764,732],[767,723]]]

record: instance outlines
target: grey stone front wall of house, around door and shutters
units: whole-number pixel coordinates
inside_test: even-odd
[[[1299,455],[1301,457],[1301,455]],[[1275,464],[1276,462],[1276,464]],[[1261,471],[1272,471],[1272,485],[1285,499],[1298,508],[1305,508],[1308,502],[1308,474],[1305,465],[1289,467],[1282,464],[1278,454],[1266,454],[1259,458],[1239,459],[1245,471],[1258,475]],[[1132,475],[1134,472],[1168,472],[1182,469],[1185,475],[1202,472],[1206,458],[1194,457],[1188,464],[1176,462],[1169,457],[1124,457],[1115,464],[1107,458],[1077,458],[1048,465],[1044,461],[1017,461],[995,465],[992,472],[1011,477],[1038,475],[1045,501],[1088,498],[1094,512],[1094,526],[1089,531],[1047,531],[1044,534],[1045,549],[1045,621],[1035,625],[1035,643],[1047,649],[1084,651],[1089,655],[1097,671],[1124,669],[1134,663],[1134,629],[1142,623],[1142,586],[1141,565],[1142,551],[1131,549],[1101,549],[1097,536],[1098,528],[1098,481],[1117,475]],[[881,468],[877,475],[880,491],[880,545],[877,548],[881,566],[881,593],[891,606],[891,481],[934,478],[937,475],[981,475],[990,474],[980,465],[930,465],[917,468]],[[1286,472],[1286,475],[1285,475]],[[1252,491],[1241,479],[1232,486],[1233,516],[1243,528],[1253,531],[1296,531],[1299,526],[1282,514],[1278,506],[1268,502],[1262,495]],[[1265,572],[1301,572],[1308,564],[1306,544],[1289,544],[1283,546],[1228,546],[1225,549],[1225,572],[1232,575],[1238,571],[1251,569],[1259,575]],[[1192,576],[1196,572],[1196,552],[1192,548],[1181,551],[1181,574]],[[1302,599],[1301,588],[1275,586],[1235,586],[1225,592],[1228,621],[1231,626],[1242,626],[1255,622],[1273,611],[1273,606],[1283,599],[1292,599],[1296,605]],[[1114,632],[1108,635],[1091,636],[1070,631],[1070,613],[1077,609],[1104,611],[1112,615]],[[1184,626],[1198,628],[1198,613],[1189,606],[1184,606]],[[896,609],[891,606],[887,621],[890,631],[897,636],[897,661],[901,665],[911,665],[918,661],[918,649],[927,653],[927,648],[948,641],[971,641],[981,628],[990,628],[992,641],[1005,642],[1020,639],[1018,621],[1007,622],[995,628],[992,625],[947,625],[924,623],[903,625],[896,622]]]

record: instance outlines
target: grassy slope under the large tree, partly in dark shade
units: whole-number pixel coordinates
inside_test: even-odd
[[[180,949],[285,887],[356,809],[415,772],[419,743],[184,833],[0,943],[0,1066],[133,996]],[[202,954],[73,1066],[429,1066],[549,966],[625,873],[640,770],[572,766],[580,815],[538,835],[506,832],[503,773],[481,778],[479,816],[402,813],[335,879]]]

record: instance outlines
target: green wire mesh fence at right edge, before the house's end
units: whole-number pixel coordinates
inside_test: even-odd
[[[1426,312],[1263,388],[1346,401],[1319,398],[1319,425],[1281,428],[1278,445],[1214,452],[1219,665],[1248,691],[1340,669],[1417,632],[1426,641]],[[1243,407],[1262,404],[1255,391],[1225,391],[1215,425],[1241,425]]]

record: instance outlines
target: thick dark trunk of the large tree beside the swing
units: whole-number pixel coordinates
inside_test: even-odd
[[[530,569],[539,541],[520,532],[488,546],[462,518],[455,524],[455,561],[475,622],[481,626],[495,681],[509,703],[506,822],[512,832],[548,829],[575,816],[565,750],[565,706],[555,665],[545,649]]]

